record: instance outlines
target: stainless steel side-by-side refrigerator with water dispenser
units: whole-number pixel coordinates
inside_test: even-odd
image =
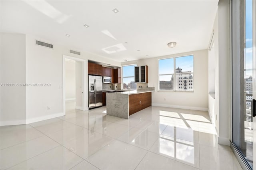
[[[89,109],[102,106],[102,76],[88,76]]]

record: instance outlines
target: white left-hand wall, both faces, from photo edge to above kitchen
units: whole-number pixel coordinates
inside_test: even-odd
[[[1,82],[51,84],[8,90],[1,88],[1,122],[9,125],[28,124],[64,115],[63,55],[121,66],[120,62],[83,51],[80,51],[81,56],[72,54],[69,47],[58,44],[54,44],[54,49],[38,46],[35,39],[54,44],[33,35],[1,33]],[[88,95],[87,65],[85,69],[84,95]],[[85,99],[85,108],[88,108],[88,99]]]

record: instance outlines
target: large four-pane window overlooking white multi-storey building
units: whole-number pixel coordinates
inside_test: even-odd
[[[187,82],[193,80],[193,61],[193,55],[158,60],[158,90],[192,91],[192,83],[188,88]]]

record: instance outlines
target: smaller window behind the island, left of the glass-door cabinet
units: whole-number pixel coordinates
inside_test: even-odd
[[[123,66],[123,89],[136,90],[134,81],[134,67],[137,65]]]

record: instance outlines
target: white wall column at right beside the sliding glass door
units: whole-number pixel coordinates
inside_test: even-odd
[[[229,145],[230,140],[231,61],[229,24],[229,1],[221,0],[218,4],[218,11],[216,13],[213,26],[215,53],[215,99],[211,98],[209,95],[208,108],[210,115],[212,116],[212,122],[215,121],[218,143],[224,145]],[[211,70],[208,71],[211,72]]]

